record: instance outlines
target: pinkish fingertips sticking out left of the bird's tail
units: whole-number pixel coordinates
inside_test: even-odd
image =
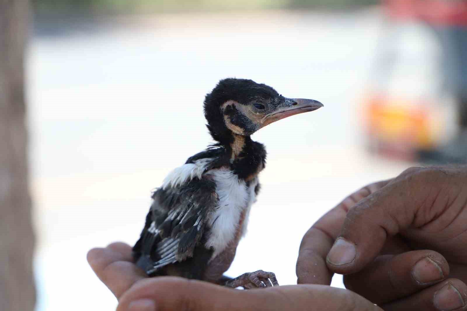
[[[136,281],[147,277],[142,269],[128,261],[127,252],[122,245],[93,248],[88,252],[87,260],[94,273],[117,299]]]

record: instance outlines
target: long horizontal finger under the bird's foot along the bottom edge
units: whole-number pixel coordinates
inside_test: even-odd
[[[292,302],[292,303],[291,303]],[[349,290],[322,285],[293,285],[232,290],[178,277],[150,278],[135,284],[121,298],[117,311],[381,311]]]

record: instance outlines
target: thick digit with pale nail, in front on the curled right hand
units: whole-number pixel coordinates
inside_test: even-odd
[[[401,176],[349,210],[326,258],[330,270],[348,274],[363,269],[389,237],[412,224],[423,226],[446,208],[448,196],[433,191],[448,188],[449,178],[439,169],[421,168]]]

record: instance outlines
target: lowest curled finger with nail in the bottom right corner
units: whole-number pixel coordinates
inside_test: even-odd
[[[415,295],[382,305],[385,311],[466,310],[467,286],[458,279],[447,279]]]

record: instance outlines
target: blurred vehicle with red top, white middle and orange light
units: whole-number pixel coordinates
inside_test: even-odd
[[[467,45],[467,1],[387,0],[384,9],[387,20],[363,98],[369,147],[418,161],[465,126],[458,118],[467,105],[467,57],[458,38],[446,40],[453,37],[445,32],[455,28]]]

